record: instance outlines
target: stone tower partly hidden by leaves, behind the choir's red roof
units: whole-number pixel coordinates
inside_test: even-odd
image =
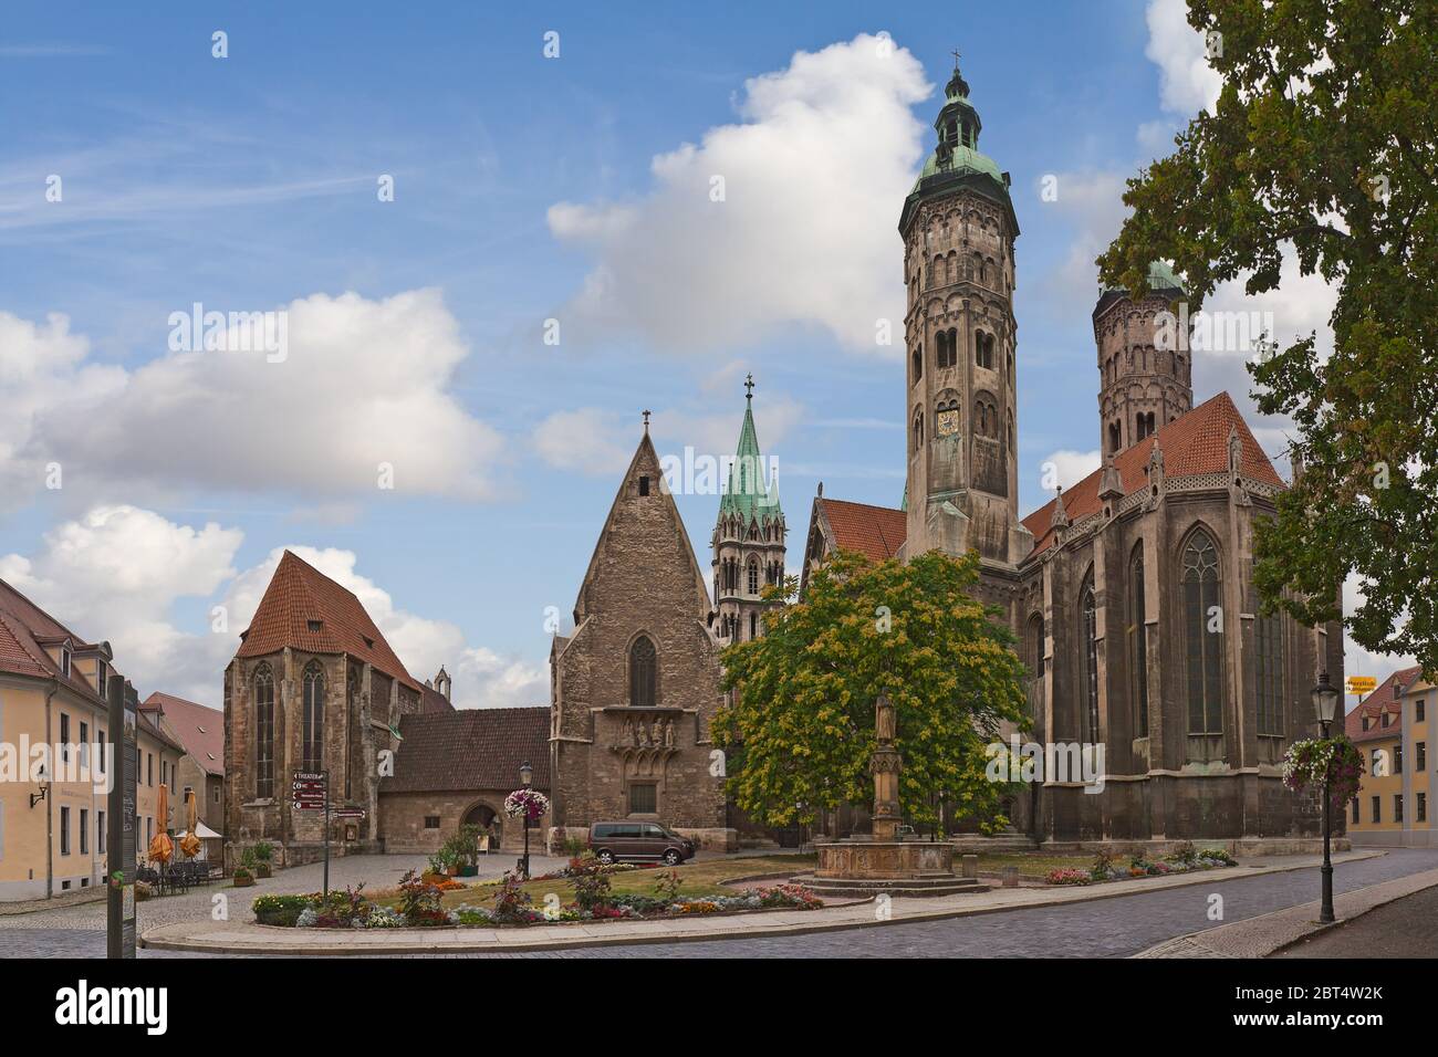
[[[1126,290],[1107,289],[1093,309],[1093,339],[1099,349],[1099,421],[1103,453],[1137,444],[1181,414],[1194,410],[1194,362],[1182,322],[1160,326],[1162,312],[1186,296],[1183,285],[1163,262],[1149,265],[1149,292],[1142,301]],[[1166,339],[1172,335],[1173,339]]]

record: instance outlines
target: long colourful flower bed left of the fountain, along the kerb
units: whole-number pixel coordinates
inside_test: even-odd
[[[516,874],[505,874],[490,899],[492,905],[460,903],[453,909],[440,905],[440,886],[411,870],[400,882],[398,905],[380,905],[361,893],[364,886],[345,892],[308,896],[260,896],[255,900],[255,920],[299,929],[398,929],[398,928],[495,928],[502,925],[552,925],[590,920],[656,920],[712,913],[752,910],[815,910],[824,906],[801,884],[775,884],[749,889],[732,896],[686,899],[679,894],[677,873],[660,874],[656,894],[611,893],[608,874],[614,867],[601,866],[592,856],[569,863],[562,874],[575,884],[572,903],[558,896],[535,906]]]

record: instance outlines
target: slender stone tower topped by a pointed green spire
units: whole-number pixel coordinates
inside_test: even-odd
[[[754,430],[754,375],[745,380],[743,426],[719,500],[713,532],[715,608],[719,641],[749,641],[764,633],[764,613],[778,603],[759,597],[768,584],[784,581],[784,511],[778,473],[759,454]]]

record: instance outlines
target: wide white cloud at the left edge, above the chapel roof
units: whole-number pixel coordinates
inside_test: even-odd
[[[446,388],[467,348],[437,290],[316,293],[285,308],[280,362],[181,351],[132,372],[86,365],[63,316],[37,326],[0,312],[0,378],[17,394],[0,426],[0,454],[14,456],[6,493],[40,488],[49,462],[91,500],[115,489],[374,493],[381,463],[398,495],[493,493],[502,441]]]

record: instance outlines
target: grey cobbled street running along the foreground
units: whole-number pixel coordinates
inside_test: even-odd
[[[1438,851],[1395,850],[1378,859],[1340,863],[1334,871],[1333,887],[1336,892],[1350,892],[1431,869],[1438,869]],[[1224,882],[1215,879],[1214,884],[1192,884],[1066,906],[1005,910],[940,922],[892,923],[805,936],[446,956],[1122,958],[1165,939],[1222,923],[1208,920],[1211,893],[1224,897],[1224,922],[1234,922],[1310,902],[1319,893],[1319,871],[1306,869]],[[19,922],[16,926],[0,928],[0,958],[99,956],[105,951],[104,932],[99,930],[22,929]],[[144,951],[141,956],[186,955]]]

